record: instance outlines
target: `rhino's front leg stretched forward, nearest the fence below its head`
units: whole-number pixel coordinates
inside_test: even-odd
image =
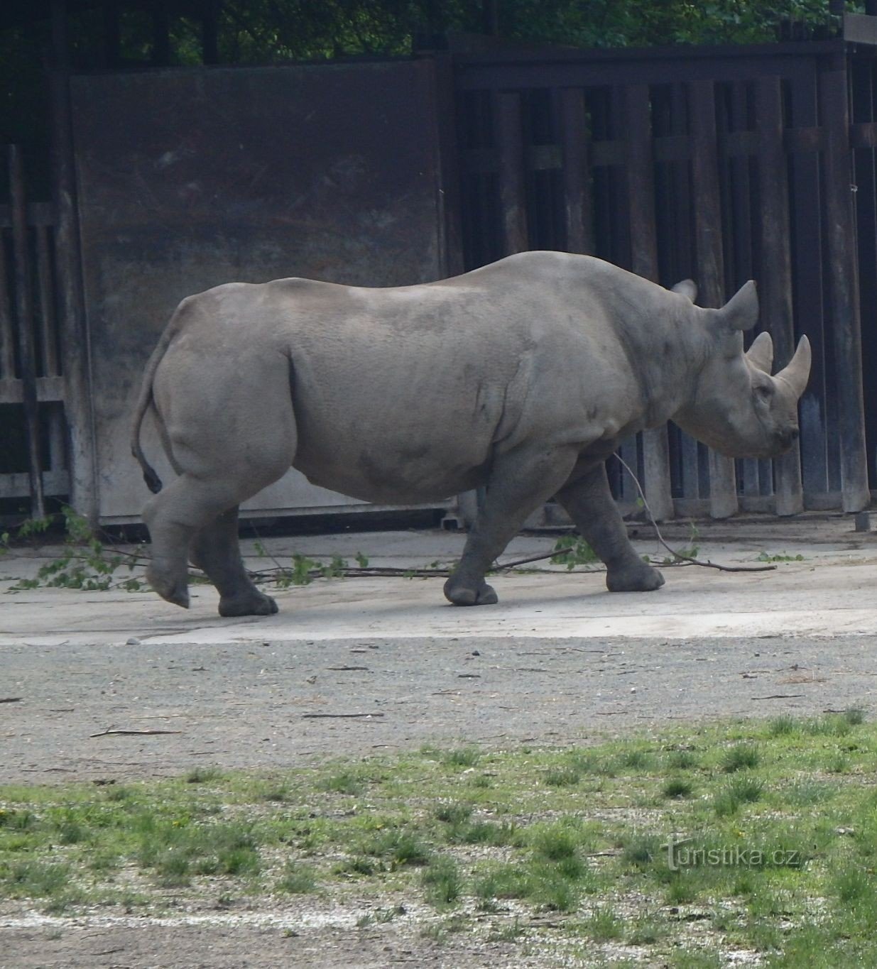
[[[606,565],[610,592],[650,592],[664,577],[636,553],[606,476],[606,462],[579,466],[557,492],[557,500],[576,522],[581,537]]]

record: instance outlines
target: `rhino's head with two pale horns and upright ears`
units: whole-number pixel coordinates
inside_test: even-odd
[[[674,287],[690,298],[689,281]],[[760,333],[743,352],[744,329],[758,321],[758,295],[748,282],[721,309],[700,310],[705,364],[691,399],[675,421],[684,431],[728,457],[773,457],[798,438],[798,401],[810,376],[810,343],[800,338],[788,366],[770,376],[773,344]]]

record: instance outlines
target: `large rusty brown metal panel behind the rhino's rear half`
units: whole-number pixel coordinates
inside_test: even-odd
[[[445,274],[434,82],[428,60],[72,78],[102,520],[138,516],[147,496],[130,416],[181,298]],[[291,472],[246,507],[352,504]]]

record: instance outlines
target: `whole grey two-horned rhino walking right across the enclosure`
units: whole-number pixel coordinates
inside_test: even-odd
[[[241,562],[242,501],[290,465],[382,505],[485,486],[445,596],[497,601],[485,572],[552,496],[607,567],[611,591],[664,578],[631,547],[606,459],[673,419],[718,452],[770,457],[798,436],[810,370],[801,337],[770,376],[770,337],[748,353],[758,297],[720,309],[691,281],[664,289],[610,263],[525,252],[439,282],[386,289],[309,279],[230,283],[184,299],[148,362],[132,450],[154,492],[148,579],[188,607],[188,562],[225,616],[275,602]],[[154,413],[177,477],[162,488],[140,444]]]

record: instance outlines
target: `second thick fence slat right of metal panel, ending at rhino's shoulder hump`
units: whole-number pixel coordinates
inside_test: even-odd
[[[593,255],[594,213],[584,91],[567,87],[560,92],[560,125],[567,251]]]

